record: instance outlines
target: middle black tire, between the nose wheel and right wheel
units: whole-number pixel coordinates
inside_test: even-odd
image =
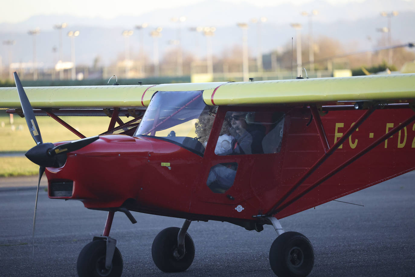
[[[195,257],[195,244],[188,233],[186,233],[185,254],[181,259],[173,256],[173,252],[177,249],[177,235],[180,228],[169,227],[162,230],[156,238],[154,238],[151,247],[151,255],[154,264],[164,272],[181,272],[190,267]]]

